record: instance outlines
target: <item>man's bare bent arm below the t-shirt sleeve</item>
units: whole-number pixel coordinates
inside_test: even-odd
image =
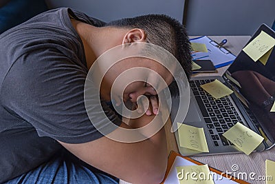
[[[129,125],[143,126],[154,117],[144,114]],[[160,116],[156,116],[156,119],[162,123]],[[120,127],[133,128],[129,125],[122,123]],[[164,127],[150,138],[137,143],[120,143],[105,136],[88,143],[60,143],[83,161],[130,183],[160,183],[166,171],[168,154]]]

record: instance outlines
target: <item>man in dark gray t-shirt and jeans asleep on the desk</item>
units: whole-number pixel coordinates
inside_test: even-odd
[[[110,68],[100,60],[112,48],[122,45],[123,50],[135,43],[164,48],[190,75],[186,31],[164,15],[104,23],[58,8],[0,34],[0,183],[162,181],[168,157],[163,127],[152,135],[133,133],[144,138],[140,141],[110,138],[120,139],[121,128],[134,130],[152,120],[163,123],[157,94],[164,87],[156,81],[161,78],[170,85],[171,71],[146,57],[125,57]],[[93,67],[92,75],[106,69],[100,85],[86,83]],[[129,74],[125,71],[131,71],[134,82],[123,76]],[[115,80],[123,78],[126,81]],[[113,90],[114,83],[121,88]],[[86,101],[86,88],[98,94],[92,92]],[[140,96],[146,96],[149,105],[139,108]],[[113,108],[124,103],[144,113],[126,123]],[[108,121],[101,119],[102,112]]]

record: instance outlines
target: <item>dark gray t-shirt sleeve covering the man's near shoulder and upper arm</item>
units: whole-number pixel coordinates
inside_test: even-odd
[[[77,57],[65,57],[54,48],[23,54],[12,65],[1,88],[4,108],[32,124],[39,136],[50,136],[65,143],[85,143],[103,136],[91,123],[84,102],[87,69],[76,62]],[[98,96],[91,96],[91,98]],[[109,122],[99,119],[100,128],[115,128],[121,121],[102,102]],[[94,105],[90,110],[102,110]],[[89,114],[90,115],[90,114]],[[91,118],[91,117],[90,117]],[[106,131],[105,131],[106,133]]]

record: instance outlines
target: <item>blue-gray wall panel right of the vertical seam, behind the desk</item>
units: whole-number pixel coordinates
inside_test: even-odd
[[[261,23],[272,27],[274,0],[188,0],[190,35],[252,35]]]

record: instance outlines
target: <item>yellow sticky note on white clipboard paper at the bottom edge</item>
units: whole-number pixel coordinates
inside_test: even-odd
[[[214,184],[208,165],[176,167],[180,184]]]

